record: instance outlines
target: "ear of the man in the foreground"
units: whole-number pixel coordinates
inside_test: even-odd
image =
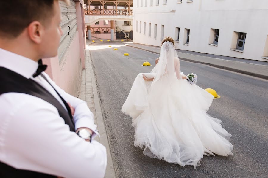
[[[30,39],[33,42],[37,44],[40,44],[42,42],[44,28],[40,22],[33,21],[32,23],[30,23],[29,26],[27,27],[27,31]]]

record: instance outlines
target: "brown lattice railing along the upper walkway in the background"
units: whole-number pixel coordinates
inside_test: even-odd
[[[85,15],[133,15],[131,9],[85,9]]]

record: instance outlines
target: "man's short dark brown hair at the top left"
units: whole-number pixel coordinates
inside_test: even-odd
[[[46,22],[54,15],[54,1],[0,0],[0,37],[15,38],[33,21]]]

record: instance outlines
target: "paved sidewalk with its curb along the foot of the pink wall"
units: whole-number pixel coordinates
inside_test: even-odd
[[[89,109],[94,114],[94,123],[99,130],[100,138],[96,137],[95,140],[100,142],[106,147],[107,151],[107,166],[105,178],[116,178],[116,173],[113,165],[112,154],[110,151],[109,141],[105,129],[105,123],[102,116],[102,108],[99,101],[97,86],[94,76],[94,71],[91,64],[89,50],[85,50],[85,69],[82,71],[80,94],[78,98],[87,102]]]

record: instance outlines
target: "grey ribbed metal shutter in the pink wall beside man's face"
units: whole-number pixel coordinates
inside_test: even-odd
[[[71,40],[77,31],[77,18],[76,18],[76,9],[74,1],[70,1],[70,6],[62,1],[60,2],[60,9],[62,14],[62,21],[60,23],[61,29],[63,30],[63,35],[60,38],[60,46],[58,48],[58,57],[61,61],[63,55],[68,49]]]

